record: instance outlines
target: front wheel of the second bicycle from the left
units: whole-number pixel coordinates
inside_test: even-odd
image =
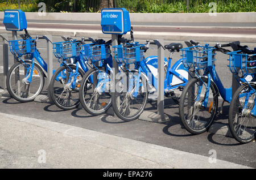
[[[49,94],[56,106],[63,110],[76,108],[79,103],[79,87],[84,71],[75,65],[61,66],[52,76]],[[74,85],[75,83],[75,85]]]

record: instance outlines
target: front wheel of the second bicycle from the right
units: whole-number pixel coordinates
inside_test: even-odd
[[[202,81],[204,82],[202,82]],[[208,130],[217,112],[218,97],[212,82],[207,88],[207,78],[189,80],[181,93],[179,115],[181,123],[191,134],[201,134]],[[207,96],[207,92],[209,92]],[[203,102],[207,100],[207,105]]]

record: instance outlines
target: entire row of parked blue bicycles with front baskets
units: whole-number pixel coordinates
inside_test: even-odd
[[[10,51],[18,61],[10,68],[6,84],[13,98],[28,102],[42,92],[47,63],[36,48],[36,42],[44,37],[31,38],[26,29],[21,37],[9,41]],[[137,119],[158,89],[158,57],[144,57],[150,44],[155,43],[134,42],[132,29],[131,38],[119,35],[116,46],[111,40],[93,38],[54,42],[53,53],[60,67],[48,87],[52,101],[64,110],[77,108],[81,102],[93,115],[106,113],[113,106],[114,113],[124,121]],[[256,135],[256,48],[250,50],[239,41],[215,46],[192,40],[185,44],[187,48],[180,43],[164,46],[170,52],[170,57],[164,59],[164,95],[179,104],[184,128],[191,134],[207,131],[218,113],[221,96],[230,103],[232,135],[240,143],[251,142]],[[172,54],[180,51],[181,58],[171,66]],[[224,88],[217,74],[217,53],[228,54],[229,69],[241,84],[233,95],[232,87]],[[118,70],[113,69],[113,59]]]

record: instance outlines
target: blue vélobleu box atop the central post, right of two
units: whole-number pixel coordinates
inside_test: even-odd
[[[126,34],[131,30],[129,12],[125,8],[102,8],[101,28],[105,34]]]

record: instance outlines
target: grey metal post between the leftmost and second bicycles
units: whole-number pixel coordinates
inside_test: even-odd
[[[49,84],[51,82],[52,78],[52,71],[53,71],[53,62],[52,62],[52,35],[44,35],[43,36],[46,39],[46,46],[47,46],[47,87],[49,87]]]

